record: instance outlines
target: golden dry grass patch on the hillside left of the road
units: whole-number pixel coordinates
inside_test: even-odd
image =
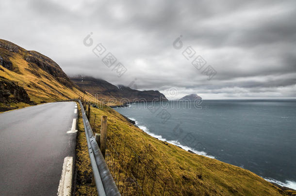
[[[1,52],[4,53],[6,50],[1,49]],[[8,70],[0,65],[0,68],[3,70],[0,70],[0,79],[3,77],[16,82],[18,86],[23,87],[27,91],[31,101],[40,104],[41,102],[53,102],[83,96],[83,92],[78,88],[66,87],[46,71],[34,64],[28,63],[24,59],[24,49],[19,50],[18,53],[11,52],[9,56],[13,69]],[[95,101],[95,98],[89,93],[85,93],[84,98]],[[19,103],[15,106],[21,105]]]

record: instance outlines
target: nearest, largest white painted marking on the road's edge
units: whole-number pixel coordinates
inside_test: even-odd
[[[73,173],[73,157],[67,156],[64,159],[61,180],[58,188],[58,196],[71,196]]]

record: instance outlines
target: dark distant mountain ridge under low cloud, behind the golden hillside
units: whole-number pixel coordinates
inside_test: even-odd
[[[102,79],[93,77],[71,77],[70,78],[82,90],[86,90],[96,98],[107,101],[112,98],[115,105],[132,103],[139,100],[151,102],[153,99],[167,101],[163,93],[158,90],[134,90],[130,87],[119,85],[118,87]],[[96,95],[97,94],[97,95]],[[120,101],[122,100],[122,101]],[[112,104],[110,104],[112,105]]]

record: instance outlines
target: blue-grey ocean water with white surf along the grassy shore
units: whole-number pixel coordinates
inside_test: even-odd
[[[296,189],[296,100],[150,102],[115,110],[160,140]]]

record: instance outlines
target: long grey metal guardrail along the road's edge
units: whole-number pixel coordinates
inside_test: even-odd
[[[70,100],[71,101],[71,100]],[[105,162],[105,159],[99,149],[99,145],[94,137],[94,133],[87,120],[84,108],[79,99],[73,99],[73,101],[78,101],[80,104],[82,119],[84,125],[84,131],[87,140],[87,147],[90,157],[91,166],[93,169],[94,179],[96,181],[96,186],[99,196],[120,196],[118,188],[113,180],[113,177],[109,171],[109,168]]]

